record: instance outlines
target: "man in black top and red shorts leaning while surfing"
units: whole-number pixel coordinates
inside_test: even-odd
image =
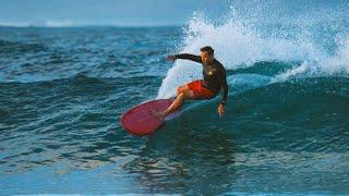
[[[214,49],[209,46],[200,49],[200,56],[190,53],[180,53],[176,56],[168,56],[167,59],[176,61],[176,59],[191,60],[203,65],[204,79],[196,79],[177,88],[176,100],[164,111],[151,110],[151,113],[157,119],[163,120],[170,112],[176,111],[188,99],[212,99],[222,88],[221,101],[218,106],[217,112],[221,117],[225,112],[225,105],[228,96],[228,85],[226,77],[226,69],[214,57]]]

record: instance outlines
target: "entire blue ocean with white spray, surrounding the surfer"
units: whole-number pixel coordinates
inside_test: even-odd
[[[348,28],[0,27],[1,195],[348,194]],[[205,45],[228,70],[225,117],[218,96],[153,136],[122,130],[129,108],[202,77],[166,56]]]

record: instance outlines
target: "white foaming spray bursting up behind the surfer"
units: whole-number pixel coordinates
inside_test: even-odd
[[[327,28],[326,25],[323,28]],[[280,29],[278,25],[263,25],[258,28],[239,21],[239,17],[227,19],[226,22],[215,25],[203,16],[194,16],[184,28],[185,36],[178,47],[178,52],[198,53],[201,47],[209,45],[215,49],[215,57],[227,70],[232,71],[248,69],[260,62],[293,64],[284,73],[275,75],[273,82],[299,76],[348,75],[348,36],[323,35],[336,38],[336,41],[330,42],[334,49],[329,51],[328,47],[326,48],[328,41],[322,42],[315,38],[317,27],[309,26],[304,29],[291,25]],[[177,86],[201,77],[201,65],[178,60],[164,78],[157,97],[172,97]]]

